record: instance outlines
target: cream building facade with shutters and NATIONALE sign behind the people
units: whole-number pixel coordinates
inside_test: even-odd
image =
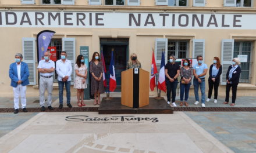
[[[8,70],[16,53],[23,53],[29,64],[27,95],[39,94],[36,37],[42,30],[56,32],[49,46],[56,47],[57,59],[65,50],[72,64],[80,47],[88,46],[88,60],[94,52],[104,53],[108,69],[114,50],[118,86],[130,54],[136,53],[142,68],[151,71],[154,49],[158,67],[162,51],[166,62],[170,54],[177,59],[202,55],[208,67],[219,57],[222,96],[227,67],[239,57],[243,62],[237,94],[256,92],[255,0],[0,0],[1,97],[13,94]],[[56,75],[55,82],[56,94]]]

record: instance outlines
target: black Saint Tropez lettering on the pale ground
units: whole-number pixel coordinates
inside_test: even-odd
[[[66,116],[66,121],[84,123],[131,123],[131,122],[159,122],[158,118],[138,117],[132,115],[116,115],[110,117],[92,117],[87,115]]]

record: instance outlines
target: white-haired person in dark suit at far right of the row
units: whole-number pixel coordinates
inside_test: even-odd
[[[232,87],[232,104],[230,106],[234,106],[234,103],[236,102],[236,90],[237,85],[239,83],[240,74],[241,74],[241,67],[239,66],[240,60],[238,58],[234,58],[232,60],[232,65],[229,66],[229,69],[227,70],[226,79],[226,99],[223,104],[229,103],[229,91]]]

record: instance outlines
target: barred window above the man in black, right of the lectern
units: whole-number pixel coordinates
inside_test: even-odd
[[[188,41],[173,41],[168,40],[168,59],[170,55],[175,55],[177,59],[185,59],[187,58],[187,47]]]

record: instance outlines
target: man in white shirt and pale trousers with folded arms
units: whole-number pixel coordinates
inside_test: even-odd
[[[55,71],[55,63],[54,61],[50,60],[51,53],[45,52],[44,53],[44,60],[39,61],[38,63],[38,72],[40,72],[40,107],[41,111],[45,111],[45,98],[44,93],[47,89],[48,92],[48,99],[47,105],[49,110],[54,110],[52,108],[52,89],[54,84],[54,71]]]

